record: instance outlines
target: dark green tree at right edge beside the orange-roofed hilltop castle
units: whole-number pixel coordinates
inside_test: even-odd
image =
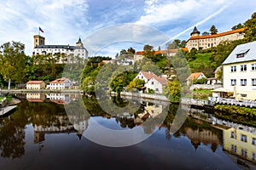
[[[246,26],[245,39],[247,42],[253,42],[256,40],[256,12],[252,14],[251,19],[244,23]]]

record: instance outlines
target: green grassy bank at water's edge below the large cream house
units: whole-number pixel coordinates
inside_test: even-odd
[[[256,109],[236,105],[215,105],[214,114],[231,122],[256,127]]]

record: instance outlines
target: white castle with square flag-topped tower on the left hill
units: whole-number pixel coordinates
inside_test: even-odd
[[[79,56],[80,58],[87,59],[88,51],[84,48],[83,42],[79,37],[79,41],[75,46],[71,45],[45,45],[45,37],[36,35],[34,36],[34,51],[33,55],[38,54],[51,54],[52,56],[61,56],[59,63],[71,63],[72,57]]]

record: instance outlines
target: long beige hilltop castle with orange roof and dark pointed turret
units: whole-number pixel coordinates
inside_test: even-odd
[[[243,39],[245,28],[236,29],[232,31],[225,31],[219,34],[213,35],[200,35],[200,31],[195,27],[194,30],[190,33],[190,38],[186,43],[186,48],[190,51],[192,48],[197,50],[207,49],[218,46],[220,42],[224,41],[235,41]]]

